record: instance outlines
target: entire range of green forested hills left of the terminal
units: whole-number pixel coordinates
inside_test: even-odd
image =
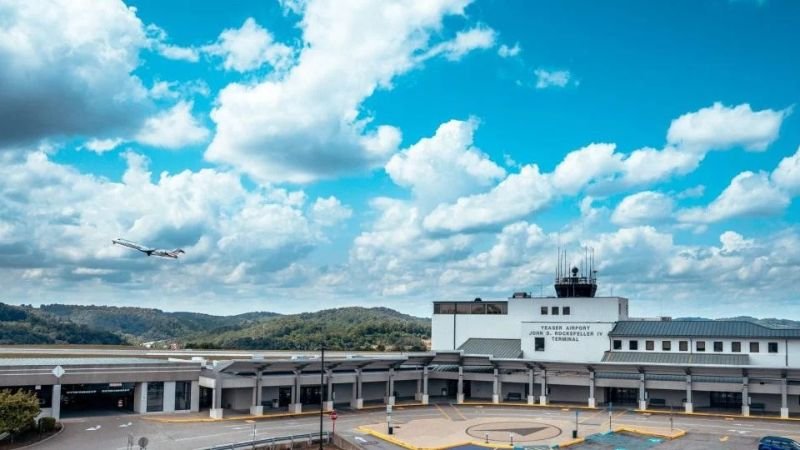
[[[214,316],[115,306],[0,303],[0,345],[177,344],[183,348],[426,350],[430,319],[388,308],[339,308],[280,315]]]

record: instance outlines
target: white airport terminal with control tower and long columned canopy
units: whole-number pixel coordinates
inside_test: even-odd
[[[589,272],[593,274],[592,271]],[[570,404],[800,417],[800,329],[636,319],[560,271],[554,297],[436,301],[426,353],[0,349],[0,389],[45,415],[363,408],[396,402]]]

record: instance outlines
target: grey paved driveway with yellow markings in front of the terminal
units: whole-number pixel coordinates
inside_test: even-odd
[[[447,420],[463,420],[478,417],[508,417],[574,420],[574,411],[560,409],[523,409],[476,406],[430,406],[426,408],[398,408],[393,413],[393,420],[402,423],[413,419],[445,418]],[[382,422],[383,411],[340,411],[336,422],[336,431],[352,432],[359,425]],[[632,426],[669,427],[666,415],[641,415],[627,411],[615,411],[613,424]],[[579,421],[585,425],[604,425],[608,423],[605,411],[581,411]],[[225,444],[249,439],[253,434],[253,425],[244,421],[206,422],[194,424],[160,423],[145,420],[137,415],[100,416],[74,418],[64,420],[65,430],[56,438],[45,442],[36,449],[62,450],[125,450],[128,433],[138,440],[147,436],[150,440],[149,450],[184,450],[197,449],[215,444]],[[325,418],[325,426],[330,420]],[[723,418],[675,416],[674,426],[689,431],[686,438],[659,448],[664,449],[752,449],[753,443],[760,436],[776,434],[792,436],[800,439],[800,424],[797,422],[776,422],[765,420],[726,420]],[[580,427],[580,425],[579,425]],[[282,436],[286,434],[302,434],[318,431],[319,418],[304,416],[292,419],[272,419],[256,422],[258,437]],[[374,446],[370,446],[374,448]]]

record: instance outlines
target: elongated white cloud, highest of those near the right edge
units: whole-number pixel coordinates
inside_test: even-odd
[[[717,102],[673,120],[667,141],[699,152],[737,146],[750,151],[764,151],[778,138],[781,123],[789,112],[753,111],[747,103],[728,107]]]

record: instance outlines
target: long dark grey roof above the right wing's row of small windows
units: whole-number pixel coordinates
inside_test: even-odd
[[[800,328],[769,328],[739,320],[625,320],[617,322],[608,335],[800,339]]]

